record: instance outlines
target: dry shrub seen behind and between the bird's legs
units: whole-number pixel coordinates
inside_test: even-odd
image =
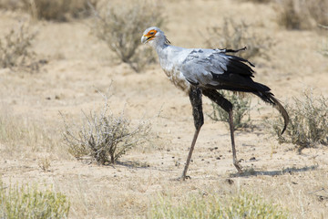
[[[237,94],[234,94],[231,91],[220,91],[220,94],[231,101],[233,106],[233,126],[235,130],[249,127],[248,123],[251,120],[251,99],[250,98],[241,98]],[[229,123],[229,114],[218,104],[212,102],[213,111],[210,113],[209,117],[212,120],[219,120]],[[246,120],[243,120],[247,117]]]

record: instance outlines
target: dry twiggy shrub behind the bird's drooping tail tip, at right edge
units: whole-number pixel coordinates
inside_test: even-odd
[[[294,98],[292,105],[286,110],[290,115],[286,137],[281,133],[282,119],[273,120],[272,128],[280,141],[291,142],[300,150],[313,147],[317,143],[328,142],[328,99],[323,96],[315,97],[312,91],[304,91],[303,99]]]

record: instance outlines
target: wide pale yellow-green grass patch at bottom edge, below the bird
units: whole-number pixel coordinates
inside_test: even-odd
[[[151,206],[147,218],[289,218],[289,214],[272,203],[265,203],[250,193],[234,196],[189,195],[175,203],[159,196]]]

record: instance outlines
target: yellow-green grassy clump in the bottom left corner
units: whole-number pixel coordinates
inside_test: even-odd
[[[40,190],[36,185],[8,185],[0,180],[0,217],[67,218],[70,204],[67,196],[53,189]]]

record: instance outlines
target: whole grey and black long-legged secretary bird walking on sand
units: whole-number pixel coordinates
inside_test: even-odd
[[[164,32],[156,26],[145,30],[141,37],[141,43],[148,43],[156,50],[159,56],[159,64],[169,80],[176,87],[188,93],[190,97],[196,130],[182,172],[182,180],[187,178],[192,151],[200,133],[200,128],[204,124],[202,95],[205,95],[229,113],[233,165],[239,173],[242,173],[242,170],[241,164],[237,160],[234,142],[232,104],[217,89],[255,94],[281,112],[284,120],[282,133],[286,130],[289,122],[287,111],[282,107],[279,100],[273,97],[270,88],[252,80],[254,71],[251,67],[254,66],[251,62],[242,57],[227,54],[236,53],[246,49],[246,47],[237,50],[174,47],[170,45]]]

